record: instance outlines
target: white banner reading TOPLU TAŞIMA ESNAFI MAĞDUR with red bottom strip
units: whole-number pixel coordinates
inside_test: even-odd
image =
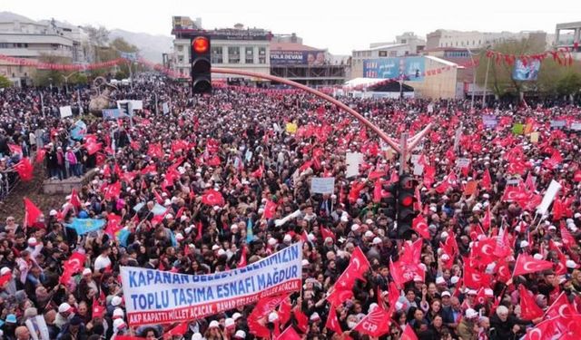
[[[121,267],[129,325],[169,324],[212,316],[267,296],[299,291],[301,243],[246,267],[209,275]]]

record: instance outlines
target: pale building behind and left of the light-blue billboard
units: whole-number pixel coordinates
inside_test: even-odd
[[[351,53],[350,79],[363,77],[363,64],[366,60],[417,55],[426,47],[426,42],[412,32],[396,36],[393,43],[372,43],[369,49],[354,50]]]

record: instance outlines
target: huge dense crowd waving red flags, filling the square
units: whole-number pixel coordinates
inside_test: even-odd
[[[419,182],[415,206],[428,235],[405,240],[377,192],[377,182],[396,182],[404,164],[330,103],[304,92],[228,87],[191,98],[182,84],[159,80],[111,93],[112,102],[122,99],[143,100],[143,110],[132,121],[85,119],[84,136],[75,141],[71,130],[79,118],[61,119],[55,108],[81,102],[87,112],[89,92],[44,92],[45,114],[37,90],[0,92],[2,162],[45,150],[46,178],[97,168],[62,206],[42,211],[34,223],[7,217],[0,227],[0,339],[162,338],[175,325],[128,325],[119,267],[209,274],[300,241],[303,287],[291,295],[295,316],[277,324],[280,330],[272,329],[271,316],[261,321],[273,333],[293,325],[307,339],[374,338],[357,325],[384,308],[392,314],[382,320],[389,329],[381,339],[401,339],[411,329],[419,339],[504,340],[553,316],[522,316],[524,300],[543,313],[555,303],[579,311],[581,140],[571,129],[581,121],[578,106],[492,103],[471,112],[464,100],[342,98],[394,137],[433,124],[412,152],[418,156],[405,160]],[[485,125],[483,114],[496,123],[488,118]],[[556,128],[551,121],[566,124]],[[7,144],[21,146],[22,154]],[[348,152],[363,154],[349,178]],[[460,159],[468,166],[459,168]],[[310,181],[320,177],[335,179],[332,194],[310,192]],[[562,189],[540,216],[539,198],[551,180]],[[223,201],[202,201],[211,189]],[[507,197],[511,190],[521,190],[518,199]],[[161,215],[153,213],[158,206]],[[104,219],[107,228],[126,230],[125,238],[105,228],[79,235],[70,228],[74,219]],[[394,289],[393,263],[411,242],[421,245],[423,275]],[[483,245],[502,256],[484,257]],[[350,287],[352,296],[331,306],[329,293],[357,248],[369,271]],[[83,266],[64,280],[71,274],[64,273],[65,261],[78,252]],[[524,255],[554,267],[513,277]],[[467,271],[475,270],[487,280],[468,280]],[[191,320],[182,334],[169,337],[252,339],[251,311],[241,306]],[[309,318],[307,329],[296,326],[300,313]],[[326,326],[334,313],[341,332]]]

